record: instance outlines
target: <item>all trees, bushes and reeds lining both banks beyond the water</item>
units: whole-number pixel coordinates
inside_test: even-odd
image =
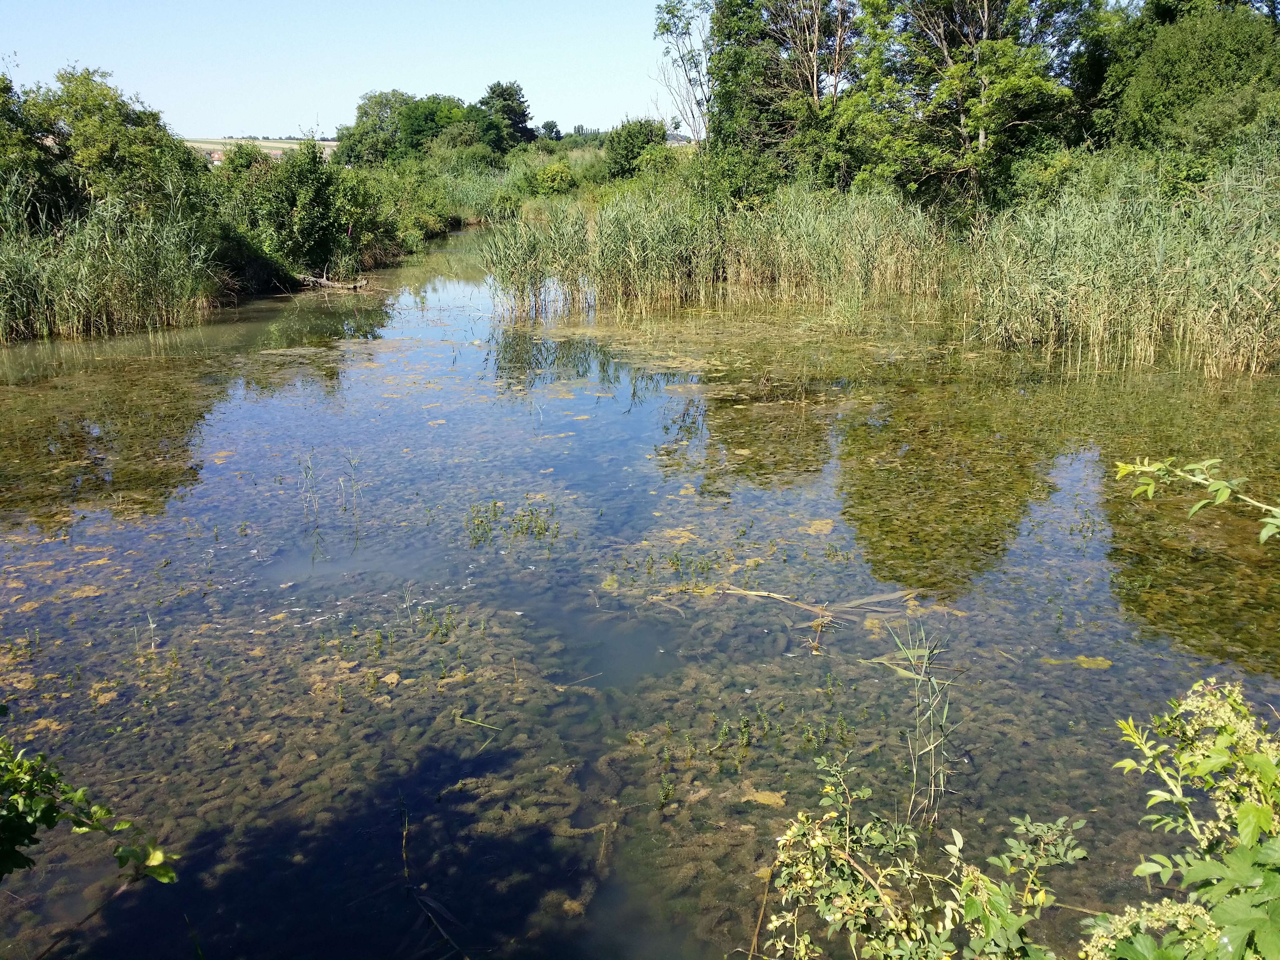
[[[1002,348],[1258,372],[1280,361],[1276,24],[1194,0],[664,0],[669,120],[563,136],[513,82],[375,91],[332,157],[216,165],[105,74],[3,79],[0,340],[182,323],[490,223],[522,312],[765,298],[854,329],[928,300]]]

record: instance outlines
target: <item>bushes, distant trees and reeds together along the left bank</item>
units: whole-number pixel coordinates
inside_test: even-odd
[[[333,157],[307,140],[210,163],[105,73],[0,76],[0,342],[189,323],[608,178],[603,134],[530,120],[517,83],[472,105],[370,93]]]

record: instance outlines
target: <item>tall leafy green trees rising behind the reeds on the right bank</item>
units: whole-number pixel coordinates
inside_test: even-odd
[[[969,209],[1064,150],[1215,148],[1280,86],[1274,0],[663,0],[655,35],[717,163]]]

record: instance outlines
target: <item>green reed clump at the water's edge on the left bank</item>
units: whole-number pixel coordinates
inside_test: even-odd
[[[0,343],[189,324],[220,287],[195,221],[102,202],[42,230],[19,201],[0,196]]]

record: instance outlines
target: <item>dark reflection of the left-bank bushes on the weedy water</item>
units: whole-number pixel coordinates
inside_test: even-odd
[[[200,428],[228,392],[314,383],[335,394],[340,355],[325,346],[374,339],[390,321],[367,298],[244,312],[237,324],[0,353],[4,522],[55,532],[99,508],[122,518],[163,512],[198,483]]]

